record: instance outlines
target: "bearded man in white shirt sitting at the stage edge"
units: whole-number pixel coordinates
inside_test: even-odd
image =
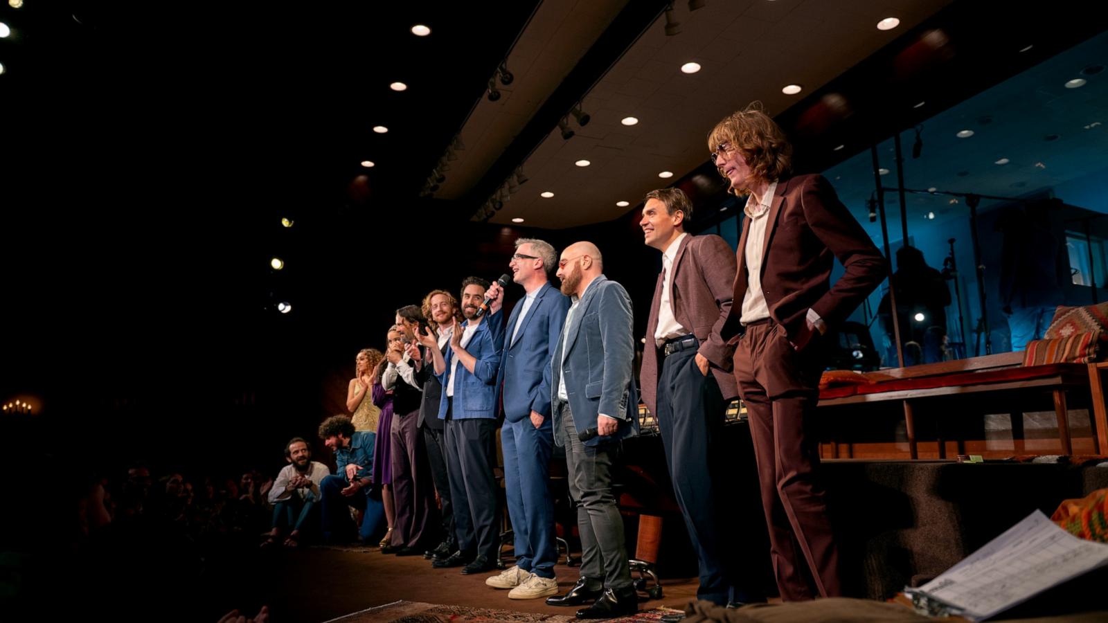
[[[281,531],[291,528],[285,545],[295,548],[300,543],[302,531],[317,523],[316,502],[320,499],[319,484],[331,470],[324,463],[311,460],[311,448],[307,440],[294,437],[285,446],[285,460],[277,480],[269,489],[269,503],[274,505],[273,530],[263,547],[277,542]]]

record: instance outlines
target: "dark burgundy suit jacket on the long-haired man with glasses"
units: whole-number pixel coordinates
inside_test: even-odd
[[[786,328],[790,338],[804,323],[809,308],[834,327],[885,278],[885,258],[822,175],[779,181],[768,218],[762,293],[770,317]],[[736,303],[720,331],[726,341],[742,333],[739,318],[749,279],[745,253],[749,232],[748,221],[736,255]],[[835,257],[845,273],[831,287]]]

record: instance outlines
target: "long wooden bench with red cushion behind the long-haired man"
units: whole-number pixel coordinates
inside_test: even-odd
[[[882,370],[881,382],[862,382],[828,387],[820,391],[820,407],[900,401],[904,412],[911,458],[919,458],[915,440],[913,404],[932,397],[978,392],[1010,391],[1038,388],[1054,395],[1055,415],[1058,420],[1058,439],[1061,453],[1073,453],[1069,439],[1069,420],[1066,391],[1084,389],[1089,392],[1096,452],[1108,452],[1108,415],[1106,415],[1100,370],[1105,364],[1048,364],[1023,366],[1023,353],[1004,353]],[[940,445],[940,457],[945,449]]]

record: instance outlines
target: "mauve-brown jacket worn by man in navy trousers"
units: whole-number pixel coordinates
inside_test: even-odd
[[[661,279],[665,268],[658,273],[658,284],[654,288],[650,316],[646,321],[646,348],[643,349],[643,367],[639,387],[643,401],[652,413],[658,395],[658,375],[661,366],[660,350],[655,346],[654,331],[658,328],[658,306],[661,303]],[[669,300],[674,317],[686,330],[700,340],[698,351],[711,362],[711,372],[719,382],[724,398],[739,395],[731,374],[735,347],[728,346],[719,330],[731,312],[731,289],[735,279],[735,254],[724,238],[687,235],[677,247],[674,269],[669,272]]]

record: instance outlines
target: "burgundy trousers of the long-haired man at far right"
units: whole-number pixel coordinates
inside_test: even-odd
[[[735,379],[749,415],[770,555],[784,601],[815,596],[809,580],[820,596],[841,594],[839,552],[818,474],[818,347],[809,344],[797,353],[783,327],[761,321],[747,326],[735,349]]]

